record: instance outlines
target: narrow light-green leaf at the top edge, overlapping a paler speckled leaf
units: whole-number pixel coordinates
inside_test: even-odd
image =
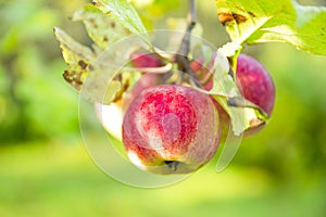
[[[102,12],[112,17],[136,35],[142,35],[143,39],[150,43],[147,29],[135,8],[126,0],[95,0],[93,4]]]

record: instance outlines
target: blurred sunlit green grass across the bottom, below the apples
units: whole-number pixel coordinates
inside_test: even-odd
[[[325,182],[324,182],[325,183]],[[124,186],[103,174],[82,142],[0,149],[0,216],[315,216],[325,214],[322,181],[278,184],[258,168],[206,166],[162,189]]]

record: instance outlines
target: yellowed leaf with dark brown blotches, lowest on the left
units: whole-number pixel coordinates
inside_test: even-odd
[[[87,47],[76,42],[65,31],[54,28],[54,35],[68,68],[64,79],[82,95],[91,102],[109,104],[121,89],[118,81],[109,82],[113,74],[99,72],[95,68],[97,55]],[[112,72],[114,72],[112,69]],[[86,79],[87,78],[87,79]]]

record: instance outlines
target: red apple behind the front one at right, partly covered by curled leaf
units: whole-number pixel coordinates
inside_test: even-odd
[[[215,59],[215,53],[212,55],[212,60]],[[191,68],[200,75],[206,76],[212,69],[212,61],[204,67],[204,60],[198,59],[191,62]],[[275,86],[267,69],[255,59],[240,54],[237,60],[236,84],[243,95],[243,98],[255,105],[260,106],[268,116],[272,115],[275,103]],[[204,85],[205,90],[212,89],[213,79]],[[228,133],[230,119],[224,108],[214,100],[214,104],[220,113],[222,122],[222,138],[225,138]],[[254,120],[253,120],[254,122]],[[252,135],[260,131],[264,125],[256,125],[248,130],[244,135]]]

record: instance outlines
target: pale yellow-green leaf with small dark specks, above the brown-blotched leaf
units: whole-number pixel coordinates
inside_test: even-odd
[[[73,15],[73,21],[82,21],[85,24],[88,35],[101,49],[114,44],[130,31],[109,16],[98,8],[88,4],[85,9],[77,11]]]

